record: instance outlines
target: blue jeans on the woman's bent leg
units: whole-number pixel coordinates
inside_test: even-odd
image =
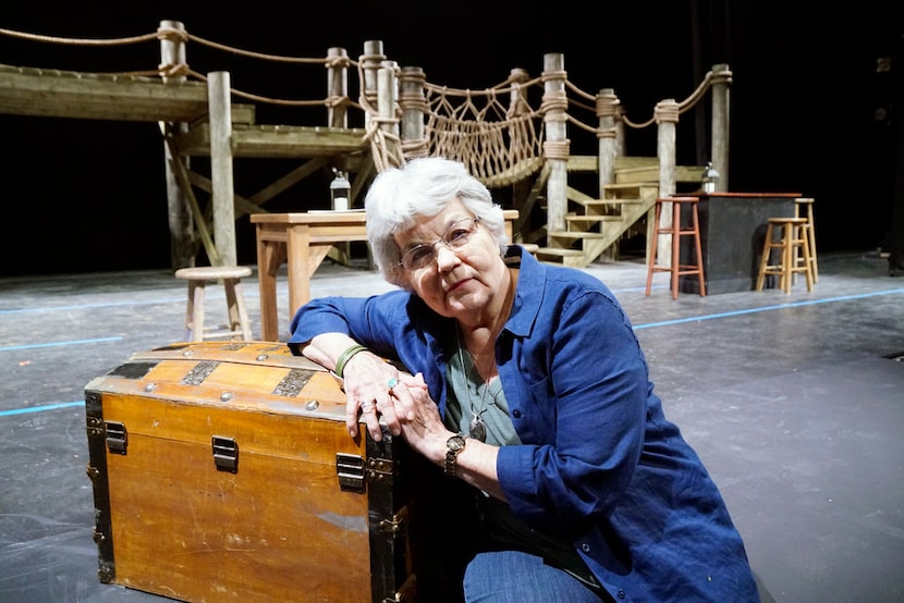
[[[467,603],[606,601],[571,574],[521,551],[477,554],[465,570],[464,591]]]

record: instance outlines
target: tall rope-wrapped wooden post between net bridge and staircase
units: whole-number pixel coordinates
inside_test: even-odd
[[[565,59],[561,53],[543,56],[543,155],[550,167],[547,181],[547,232],[565,230],[569,198],[569,138],[565,94]]]

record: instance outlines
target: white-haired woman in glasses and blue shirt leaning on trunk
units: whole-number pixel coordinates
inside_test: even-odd
[[[501,208],[454,161],[382,172],[365,207],[399,291],[315,299],[289,344],[344,378],[352,436],[382,423],[473,487],[465,600],[758,601],[606,285],[508,246]]]

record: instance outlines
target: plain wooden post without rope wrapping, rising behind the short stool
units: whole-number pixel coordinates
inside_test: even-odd
[[[235,207],[232,182],[232,102],[229,72],[207,74],[207,102],[210,108],[210,182],[213,205],[211,266],[235,266]]]

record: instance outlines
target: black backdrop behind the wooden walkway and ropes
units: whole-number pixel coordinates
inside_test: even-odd
[[[0,14],[0,27],[70,38],[142,35],[176,20],[205,39],[268,54],[322,57],[339,46],[357,58],[365,40],[380,39],[400,65],[462,88],[494,85],[513,67],[536,75],[545,53],[562,52],[570,81],[585,91],[614,88],[635,121],[649,119],[659,100],[683,100],[713,64],[728,63],[731,189],[816,197],[822,250],[889,245],[901,171],[893,98],[904,87],[901,60],[877,71],[880,58],[900,52],[904,33],[902,9],[890,1],[832,9],[793,0],[14,4]],[[112,72],[158,61],[154,44],[84,49],[0,36],[0,63],[10,65]],[[203,73],[229,71],[233,87],[262,96],[315,96],[282,66],[196,46],[190,64]],[[706,144],[698,147],[684,123],[689,114],[682,119],[679,159],[695,163]],[[323,116],[305,121],[297,110],[264,106],[258,123],[319,125]],[[156,124],[0,115],[0,275],[169,267]],[[655,144],[649,138],[634,144]],[[653,155],[655,147],[628,152]],[[236,193],[252,194],[288,169],[236,161]],[[326,187],[293,188],[267,207],[304,209],[325,194]],[[240,261],[253,263],[247,219],[237,233]]]

